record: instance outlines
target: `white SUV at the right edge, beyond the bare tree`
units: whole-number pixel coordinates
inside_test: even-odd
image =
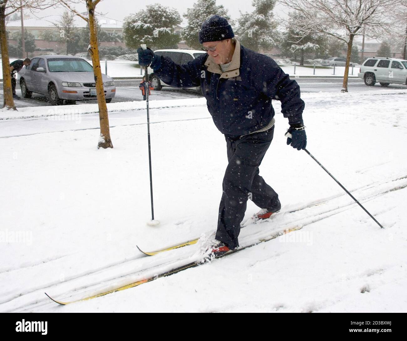
[[[390,83],[407,84],[407,60],[372,57],[365,60],[357,76],[368,86],[379,82],[381,86]]]

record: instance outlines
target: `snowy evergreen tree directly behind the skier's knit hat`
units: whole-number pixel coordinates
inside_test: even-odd
[[[223,7],[223,5],[217,5],[216,0],[199,0],[195,2],[192,8],[188,8],[184,17],[186,18],[188,24],[182,30],[182,39],[185,40],[186,44],[195,50],[201,48],[199,44],[199,31],[203,22],[211,17],[212,15],[220,15],[230,22],[230,17],[228,15],[228,10]]]

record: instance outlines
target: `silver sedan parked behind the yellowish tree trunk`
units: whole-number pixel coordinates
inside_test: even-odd
[[[31,60],[27,68],[19,72],[21,93],[30,98],[33,92],[48,95],[53,105],[96,99],[96,87],[92,66],[83,58],[45,55]],[[116,94],[111,77],[102,74],[106,103]]]

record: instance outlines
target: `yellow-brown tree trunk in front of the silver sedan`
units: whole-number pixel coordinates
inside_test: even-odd
[[[89,13],[89,29],[90,29],[90,55],[92,56],[93,73],[96,83],[96,95],[99,106],[99,121],[101,125],[101,136],[98,142],[98,148],[113,148],[112,140],[110,139],[109,117],[107,116],[107,105],[105,100],[105,92],[103,89],[102,72],[99,60],[98,39],[96,35],[96,26],[94,18],[94,4],[92,0],[86,0],[86,8]]]

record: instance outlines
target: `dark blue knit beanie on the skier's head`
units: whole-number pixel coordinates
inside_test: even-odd
[[[228,20],[217,14],[212,15],[204,21],[199,31],[199,43],[216,42],[218,40],[230,39],[234,37],[232,26]]]

